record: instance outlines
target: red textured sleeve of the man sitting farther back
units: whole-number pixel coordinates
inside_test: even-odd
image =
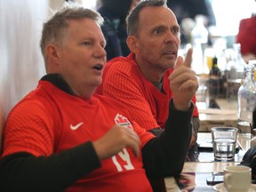
[[[118,62],[111,65],[118,65]],[[131,73],[131,68],[122,65],[122,63],[117,68],[112,67],[108,68],[108,73],[103,80],[102,90],[104,95],[116,98],[124,103],[129,109],[133,120],[138,122],[141,127],[147,130],[158,127],[159,125],[151,113],[148,101],[143,96],[144,92],[141,90],[141,86],[143,87],[144,85],[140,84],[139,80],[134,80],[140,79],[140,76],[136,73]],[[131,78],[131,74],[133,78]]]

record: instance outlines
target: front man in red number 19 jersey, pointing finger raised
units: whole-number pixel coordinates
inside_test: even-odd
[[[7,117],[1,192],[148,192],[146,172],[180,174],[191,137],[190,100],[198,87],[190,61],[178,63],[170,76],[170,116],[156,137],[122,103],[93,94],[106,62],[102,22],[99,13],[73,7],[44,23],[47,75]]]

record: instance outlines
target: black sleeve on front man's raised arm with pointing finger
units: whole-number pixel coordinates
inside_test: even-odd
[[[142,148],[148,178],[178,175],[182,171],[191,139],[193,109],[191,102],[188,111],[176,110],[170,100],[165,131]]]

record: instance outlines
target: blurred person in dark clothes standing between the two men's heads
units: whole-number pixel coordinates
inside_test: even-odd
[[[140,0],[100,0],[98,11],[104,18],[101,29],[107,42],[105,47],[107,60],[117,56],[127,56],[130,53],[126,44],[125,18],[139,2]]]

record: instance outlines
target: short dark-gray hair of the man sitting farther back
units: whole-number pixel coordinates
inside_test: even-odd
[[[148,6],[166,6],[166,0],[141,0],[139,4],[137,4],[129,15],[126,18],[127,23],[127,35],[128,36],[138,36],[139,30],[139,19],[140,12],[144,7]]]

